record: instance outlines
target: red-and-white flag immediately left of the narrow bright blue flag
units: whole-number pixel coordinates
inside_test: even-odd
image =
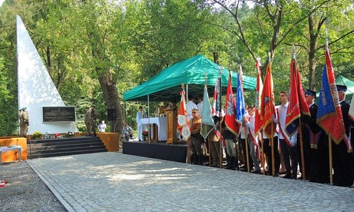
[[[228,130],[234,133],[235,135],[238,135],[240,132],[240,127],[238,127],[236,123],[235,107],[236,107],[236,102],[232,94],[232,83],[231,83],[231,74],[230,74],[229,81],[228,81],[228,91],[226,92],[226,103],[225,103],[226,111],[225,111],[224,119],[225,119],[225,125],[228,128]]]

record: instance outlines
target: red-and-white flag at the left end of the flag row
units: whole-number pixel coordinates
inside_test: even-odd
[[[185,91],[181,91],[181,105],[178,111],[177,130],[185,140],[190,138],[189,121],[187,118],[187,107],[185,107]]]

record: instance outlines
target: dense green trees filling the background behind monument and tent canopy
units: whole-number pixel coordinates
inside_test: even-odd
[[[66,105],[95,103],[100,120],[119,110],[135,127],[133,88],[175,62],[204,54],[255,77],[273,59],[275,91],[289,90],[291,46],[303,86],[320,89],[328,31],[336,76],[353,77],[354,5],[341,0],[6,0],[0,7],[0,135],[18,134],[15,15],[20,15]],[[254,93],[247,93],[252,104]],[[155,105],[161,102],[156,102]],[[152,104],[154,106],[154,103]]]

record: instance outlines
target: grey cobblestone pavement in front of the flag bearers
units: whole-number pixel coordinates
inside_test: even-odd
[[[119,152],[28,161],[67,211],[353,211],[354,190]]]

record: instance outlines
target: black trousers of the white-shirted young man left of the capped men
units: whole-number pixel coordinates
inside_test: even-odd
[[[287,169],[287,175],[291,174],[297,175],[297,166],[298,166],[298,159],[297,159],[297,147],[291,147],[287,144],[284,139],[279,139],[280,149],[282,150],[283,160],[285,164],[285,169]],[[290,159],[291,159],[291,166],[290,166]]]

